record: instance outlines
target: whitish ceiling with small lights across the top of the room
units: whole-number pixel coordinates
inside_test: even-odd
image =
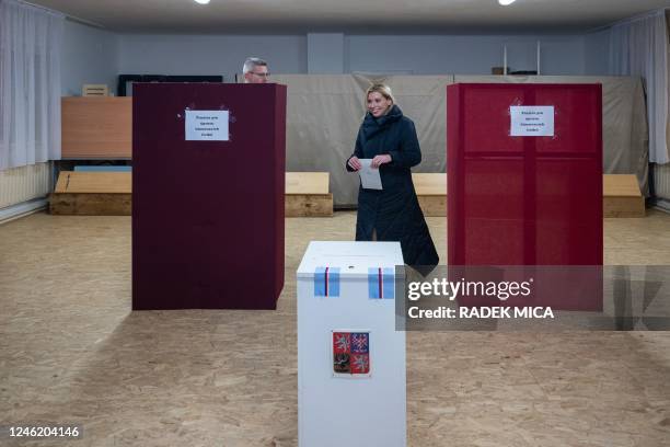
[[[124,33],[578,32],[670,0],[27,0]]]

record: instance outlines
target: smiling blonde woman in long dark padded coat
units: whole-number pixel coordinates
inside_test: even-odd
[[[394,104],[391,89],[373,84],[366,93],[368,113],[358,130],[347,171],[358,171],[360,159],[372,159],[383,190],[358,190],[357,241],[398,241],[405,264],[430,271],[439,257],[419,207],[409,168],[421,161],[412,119]]]

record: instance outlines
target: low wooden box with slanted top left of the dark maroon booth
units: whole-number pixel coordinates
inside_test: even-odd
[[[132,173],[62,171],[49,196],[54,215],[130,216]]]

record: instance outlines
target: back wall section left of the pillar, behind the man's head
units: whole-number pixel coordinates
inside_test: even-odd
[[[305,35],[120,36],[119,73],[223,74],[232,82],[249,56],[264,58],[270,72],[307,72]]]

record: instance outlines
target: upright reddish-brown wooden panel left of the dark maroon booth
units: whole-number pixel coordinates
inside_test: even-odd
[[[132,157],[132,98],[61,99],[63,159]]]

